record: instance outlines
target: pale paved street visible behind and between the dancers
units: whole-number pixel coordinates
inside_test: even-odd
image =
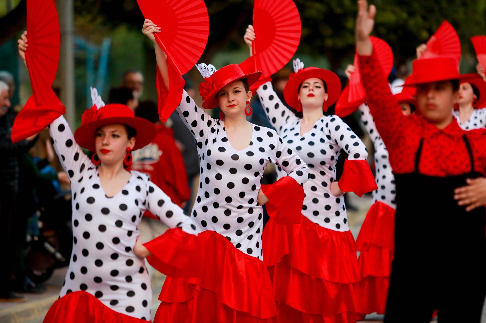
[[[349,227],[351,232],[356,238],[359,229],[364,221],[367,208],[369,207],[369,198],[363,197],[362,199],[354,196],[351,202],[358,207],[356,212],[348,212]],[[41,323],[47,310],[52,303],[58,298],[58,293],[61,289],[64,276],[66,275],[67,267],[58,269],[54,272],[54,275],[50,280],[46,282],[47,291],[43,294],[32,295],[26,294],[28,302],[26,303],[0,303],[0,322],[1,323]],[[156,313],[156,309],[159,305],[157,300],[160,289],[165,277],[156,272],[152,279],[153,288],[153,304],[152,304],[152,319]],[[483,310],[483,318],[481,323],[486,323],[486,311]],[[380,323],[383,322],[383,316],[371,314],[366,317],[365,323]],[[432,321],[436,322],[436,320]],[[411,321],[410,323],[415,323]]]

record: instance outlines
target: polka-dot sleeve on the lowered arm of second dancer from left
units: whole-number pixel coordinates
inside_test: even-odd
[[[300,159],[299,156],[289,146],[283,143],[282,138],[278,134],[270,130],[267,135],[276,138],[275,149],[275,163],[282,168],[288,176],[294,178],[301,186],[309,179],[310,170],[307,164]],[[271,161],[271,158],[269,158]]]

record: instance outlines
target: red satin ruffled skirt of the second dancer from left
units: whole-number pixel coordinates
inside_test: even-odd
[[[197,277],[168,276],[154,323],[271,323],[277,315],[268,270],[214,231],[198,235]]]

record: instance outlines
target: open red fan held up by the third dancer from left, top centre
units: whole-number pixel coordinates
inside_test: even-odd
[[[253,56],[240,64],[245,73],[262,71],[261,78],[279,71],[300,43],[300,16],[293,0],[255,0]]]

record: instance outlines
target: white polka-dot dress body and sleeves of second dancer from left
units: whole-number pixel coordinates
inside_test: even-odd
[[[262,208],[257,203],[263,171],[277,163],[303,185],[309,168],[273,129],[253,125],[250,144],[234,149],[224,121],[213,119],[184,91],[177,113],[196,139],[200,183],[191,217],[198,230],[214,230],[235,248],[262,260]]]

